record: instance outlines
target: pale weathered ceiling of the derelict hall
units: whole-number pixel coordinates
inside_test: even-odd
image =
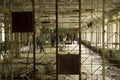
[[[57,0],[58,1],[58,27],[78,28],[79,22],[79,0]],[[119,9],[120,0],[104,0],[106,13]],[[11,9],[10,9],[11,7]],[[39,27],[55,27],[56,21],[55,0],[35,0],[35,22]],[[32,11],[32,0],[2,0],[0,11],[21,12]],[[83,25],[100,19],[102,16],[102,0],[81,0],[81,21]],[[0,14],[1,16],[2,14]]]

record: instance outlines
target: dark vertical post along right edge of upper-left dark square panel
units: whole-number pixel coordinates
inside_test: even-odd
[[[33,79],[34,80],[36,80],[36,64],[35,64],[35,62],[36,62],[36,57],[35,57],[35,1],[34,0],[32,0],[32,21],[33,21],[33,70],[34,70],[34,77],[33,77]]]

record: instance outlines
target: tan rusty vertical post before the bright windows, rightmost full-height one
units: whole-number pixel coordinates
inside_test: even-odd
[[[103,78],[103,80],[105,80],[105,54],[104,54],[104,49],[105,49],[105,45],[104,45],[104,43],[105,43],[105,39],[104,39],[104,33],[105,33],[105,31],[104,31],[104,26],[105,26],[105,21],[104,21],[104,19],[105,19],[105,0],[103,0],[103,11],[102,11],[102,19],[103,19],[103,21],[102,21],[102,64],[103,64],[103,67],[102,67],[102,78]]]

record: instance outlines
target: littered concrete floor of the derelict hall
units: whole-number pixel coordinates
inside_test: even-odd
[[[66,46],[59,45],[59,54],[78,54],[79,46],[77,43],[66,44]],[[82,63],[82,80],[102,80],[102,59],[101,56],[92,52],[85,46],[81,45],[81,63]],[[2,63],[2,62],[1,62]],[[36,69],[38,80],[54,80],[56,70],[56,48],[51,45],[45,45],[45,52],[40,53],[39,49],[36,49]],[[7,66],[7,65],[8,66]],[[9,62],[2,64],[0,72],[4,71],[9,75],[9,70],[12,69],[14,76],[23,77],[25,73],[28,73],[33,69],[33,53],[21,53],[19,59],[12,60],[12,66],[9,66]],[[119,80],[120,69],[110,64],[105,60],[105,78],[106,80]],[[24,78],[30,78],[29,75]],[[59,75],[59,80],[79,80],[79,75]],[[7,77],[5,80],[9,80]],[[16,79],[17,80],[17,79]]]

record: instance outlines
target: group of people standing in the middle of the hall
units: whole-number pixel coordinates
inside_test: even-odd
[[[33,43],[33,37],[32,35],[29,36],[29,41],[28,41],[28,46],[30,48],[30,51],[32,51],[32,43]],[[59,35],[59,42],[61,44],[63,44],[63,46],[65,46],[65,42],[66,41],[72,41],[74,42],[75,40],[75,35],[74,34],[64,34],[64,35]],[[45,36],[43,33],[40,33],[37,37],[36,37],[36,44],[37,44],[37,47],[39,47],[40,49],[40,52],[44,52],[45,49],[44,49],[44,44],[45,44]],[[55,42],[56,42],[56,35],[55,33],[51,33],[50,35],[50,41],[51,41],[51,46],[54,47],[55,46]]]

